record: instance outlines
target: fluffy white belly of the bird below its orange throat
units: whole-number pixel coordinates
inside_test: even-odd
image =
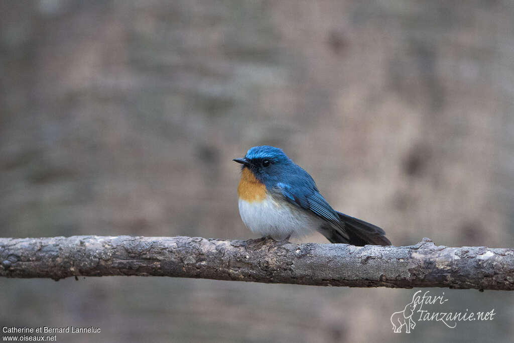
[[[246,227],[260,236],[271,236],[282,241],[287,236],[303,237],[313,233],[321,224],[314,215],[309,215],[289,203],[279,203],[271,196],[261,202],[239,200],[239,213]]]

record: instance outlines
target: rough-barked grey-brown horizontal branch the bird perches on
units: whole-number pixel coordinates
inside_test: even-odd
[[[350,287],[514,290],[514,249],[200,237],[0,238],[0,276],[171,276]]]

